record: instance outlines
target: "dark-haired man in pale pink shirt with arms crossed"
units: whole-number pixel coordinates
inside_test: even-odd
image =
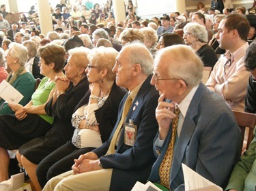
[[[250,75],[244,67],[249,23],[244,16],[230,14],[221,20],[218,30],[216,39],[220,48],[227,52],[214,66],[206,86],[222,97],[232,110],[244,111],[244,97]]]

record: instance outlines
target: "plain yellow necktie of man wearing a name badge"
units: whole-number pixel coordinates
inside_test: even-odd
[[[130,97],[130,95],[129,95],[128,98],[126,99],[126,103],[124,103],[124,109],[123,109],[121,120],[119,121],[117,129],[115,130],[115,133],[111,139],[111,143],[109,145],[109,150],[108,150],[108,152],[106,152],[106,154],[114,154],[115,153],[115,141],[117,139],[117,135],[119,134],[119,131],[121,130],[121,128],[124,124],[124,120],[128,114],[128,111],[129,111],[131,105],[132,105],[132,97]]]

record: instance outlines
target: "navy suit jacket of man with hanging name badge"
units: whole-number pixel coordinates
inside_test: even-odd
[[[124,103],[128,97],[126,94],[119,105],[117,122],[109,140],[92,151],[100,158],[104,169],[113,169],[110,190],[131,190],[137,180],[145,182],[156,160],[153,152],[153,140],[158,131],[155,116],[158,92],[154,86],[150,85],[151,77],[152,75],[147,77],[141,86],[126,117],[126,122],[131,119],[137,125],[137,138],[134,145],[131,147],[124,143],[123,128],[116,153],[104,156],[122,116]]]

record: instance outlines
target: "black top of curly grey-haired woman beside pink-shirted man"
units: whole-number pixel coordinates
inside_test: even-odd
[[[200,56],[205,67],[214,67],[215,63],[218,61],[216,52],[208,45],[203,45],[199,50],[197,50],[197,55]]]

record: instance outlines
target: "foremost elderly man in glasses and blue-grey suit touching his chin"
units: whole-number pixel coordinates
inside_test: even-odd
[[[160,92],[154,140],[158,158],[150,181],[168,190],[184,190],[182,163],[225,188],[240,158],[236,118],[223,99],[201,83],[202,67],[201,59],[184,45],[165,48],[155,58],[151,83]]]

